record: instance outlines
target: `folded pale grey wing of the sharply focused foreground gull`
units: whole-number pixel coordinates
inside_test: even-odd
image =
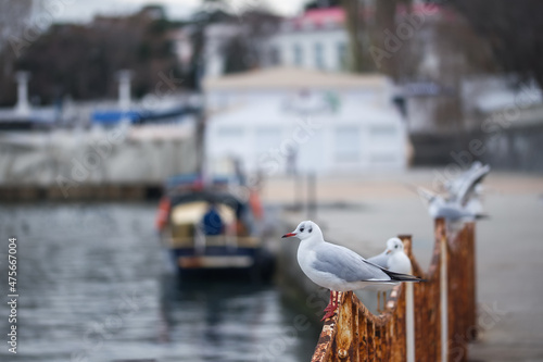
[[[321,244],[316,249],[313,267],[331,273],[345,282],[377,279],[389,282],[391,278],[379,266],[369,264],[354,251],[334,244]]]

